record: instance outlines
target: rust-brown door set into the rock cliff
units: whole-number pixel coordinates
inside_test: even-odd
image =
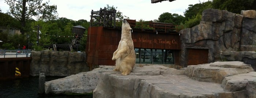
[[[188,49],[188,65],[208,63],[208,49]]]

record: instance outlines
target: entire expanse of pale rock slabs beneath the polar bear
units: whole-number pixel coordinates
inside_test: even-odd
[[[93,98],[255,98],[255,72],[240,61],[174,69],[134,67],[123,76],[114,66],[45,83],[46,94],[88,94]]]

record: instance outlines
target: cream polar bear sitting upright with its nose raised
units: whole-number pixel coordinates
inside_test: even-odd
[[[112,60],[116,60],[114,71],[120,71],[125,76],[129,75],[136,62],[131,30],[130,24],[123,19],[121,40],[112,57]]]

